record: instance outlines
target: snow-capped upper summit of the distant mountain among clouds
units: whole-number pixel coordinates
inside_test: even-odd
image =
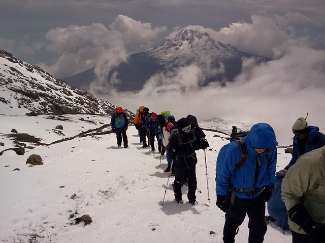
[[[182,29],[175,38],[165,39],[152,50],[149,55],[171,61],[178,58],[231,58],[238,55],[246,56],[247,53],[239,52],[229,44],[223,44],[213,39],[207,32],[191,29]]]

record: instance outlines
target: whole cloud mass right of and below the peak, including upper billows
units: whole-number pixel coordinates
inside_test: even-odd
[[[225,87],[214,83],[201,88],[201,77],[212,70],[190,65],[152,76],[138,94],[106,98],[134,111],[140,105],[153,112],[170,110],[176,118],[191,113],[199,119],[267,122],[274,127],[282,145],[291,144],[291,126],[307,112],[309,124],[324,131],[321,126],[325,114],[321,111],[325,109],[325,50],[312,49],[313,40],[308,36],[297,37],[288,19],[319,23],[300,15],[289,17],[252,16],[252,23],[233,23],[219,32],[202,26],[186,27],[209,32],[219,36],[215,37],[219,40],[222,37],[223,42],[232,40],[232,45],[242,43],[242,48],[238,48],[241,51],[255,50],[254,53],[268,53],[274,58],[259,65],[252,59],[244,60],[242,73]],[[245,41],[246,37],[250,42]]]

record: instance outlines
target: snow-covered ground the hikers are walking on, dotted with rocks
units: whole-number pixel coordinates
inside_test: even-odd
[[[12,140],[3,135],[10,133],[12,128],[42,138],[49,144],[81,131],[99,128],[102,122],[109,123],[103,116],[47,117],[2,115],[0,142],[4,142],[5,147],[0,146],[0,150],[12,146]],[[62,125],[61,131],[66,136],[51,131],[56,125]],[[216,126],[222,127],[221,124]],[[36,148],[26,148],[24,155],[5,151],[0,156],[0,241],[221,243],[224,213],[215,206],[215,166],[218,151],[229,141],[214,137],[224,137],[224,134],[205,133],[210,143],[206,151],[209,194],[204,152],[199,150],[197,206],[186,203],[186,186],[182,187],[185,204],[175,203],[174,177],[168,181],[168,175],[163,171],[167,167],[166,157],[161,156],[160,160],[160,154],[142,149],[134,126],[127,130],[129,149],[116,148],[115,134],[98,134],[49,146],[26,143]],[[44,165],[26,165],[31,154],[40,155]],[[290,156],[284,154],[282,148],[278,149],[278,170],[287,164]],[[15,168],[19,171],[14,171]],[[75,224],[84,214],[91,217],[92,223]],[[248,241],[247,224],[246,217],[239,227],[236,242]],[[269,224],[264,242],[289,243],[291,236]]]

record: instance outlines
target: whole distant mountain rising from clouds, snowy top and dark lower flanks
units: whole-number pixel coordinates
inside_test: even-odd
[[[141,90],[146,80],[158,72],[167,72],[180,66],[196,63],[205,68],[218,68],[222,64],[224,73],[216,73],[205,77],[201,85],[210,82],[232,81],[242,68],[242,59],[255,57],[257,63],[271,59],[238,51],[229,44],[223,44],[213,39],[208,33],[190,29],[179,31],[175,38],[165,39],[148,52],[132,54],[126,63],[113,68],[107,80],[109,82],[114,72],[121,81],[114,87],[119,91]],[[63,78],[67,84],[87,90],[95,79],[94,68]]]

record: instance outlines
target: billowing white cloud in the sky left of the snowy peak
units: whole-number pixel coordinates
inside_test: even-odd
[[[52,65],[43,67],[53,75],[64,77],[96,66],[96,73],[102,77],[103,72],[109,70],[100,68],[112,67],[132,53],[149,50],[166,29],[122,15],[117,16],[109,28],[99,23],[54,28],[45,36],[50,42],[47,50],[59,53],[60,57]],[[103,65],[105,63],[110,64]]]

